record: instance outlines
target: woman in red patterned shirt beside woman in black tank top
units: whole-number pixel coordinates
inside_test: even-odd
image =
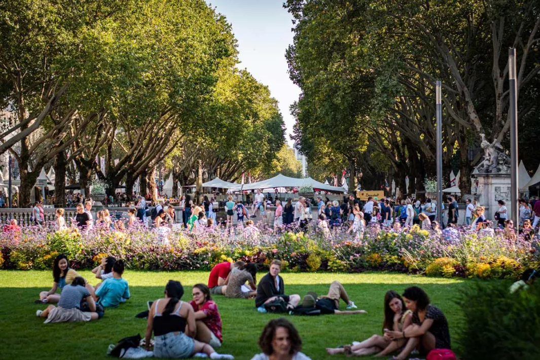
[[[195,339],[209,344],[212,348],[221,348],[221,316],[218,305],[212,300],[210,289],[205,284],[195,284],[192,290],[193,300],[190,305],[195,312],[197,335]]]

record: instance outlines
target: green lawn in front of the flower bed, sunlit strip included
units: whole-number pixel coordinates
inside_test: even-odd
[[[96,284],[90,271],[79,273]],[[330,357],[326,347],[335,347],[352,341],[365,339],[373,334],[381,334],[383,320],[383,297],[389,289],[400,293],[408,286],[421,286],[440,307],[448,318],[450,334],[456,345],[458,328],[462,321],[460,308],[454,299],[465,280],[436,279],[393,273],[329,274],[329,273],[285,273],[287,294],[316,291],[326,294],[333,280],[342,282],[350,298],[365,309],[368,314],[352,316],[288,316],[299,330],[303,349],[313,360],[345,358]],[[262,276],[262,274],[261,274]],[[130,283],[131,299],[117,309],[107,309],[105,316],[91,323],[43,324],[43,318],[36,317],[37,309],[43,305],[34,304],[39,291],[49,290],[52,285],[50,271],[0,271],[0,330],[5,345],[0,358],[5,359],[105,359],[109,344],[119,339],[141,334],[144,337],[146,321],[134,317],[146,309],[147,300],[163,296],[168,280],[180,280],[185,286],[184,300],[190,300],[191,286],[206,283],[208,273],[203,271],[126,271],[124,278]],[[251,359],[260,352],[257,339],[271,314],[260,314],[255,310],[253,300],[228,299],[214,296],[218,303],[222,323],[224,344],[220,352],[233,354],[237,359]],[[341,310],[345,303],[341,302]]]

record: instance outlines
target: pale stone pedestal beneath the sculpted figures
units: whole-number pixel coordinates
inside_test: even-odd
[[[478,173],[476,176],[478,178],[477,201],[485,207],[485,218],[493,221],[494,214],[499,208],[498,201],[504,200],[510,219],[513,205],[510,200],[510,173]]]

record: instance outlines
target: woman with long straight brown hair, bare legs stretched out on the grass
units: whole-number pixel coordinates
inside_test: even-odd
[[[405,303],[400,294],[397,294],[394,290],[390,290],[384,295],[384,322],[382,324],[384,336],[373,335],[361,343],[345,345],[343,348],[327,348],[326,351],[330,355],[345,352],[347,356],[362,356],[379,352],[377,356],[386,356],[401,348],[405,344],[405,340],[392,341],[384,331],[389,329],[403,331],[411,323],[413,323],[412,311],[406,310]]]

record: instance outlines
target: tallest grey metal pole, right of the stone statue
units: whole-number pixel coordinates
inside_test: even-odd
[[[510,181],[512,221],[518,219],[518,178],[517,178],[517,80],[516,80],[516,49],[508,49],[508,78],[510,82]]]

